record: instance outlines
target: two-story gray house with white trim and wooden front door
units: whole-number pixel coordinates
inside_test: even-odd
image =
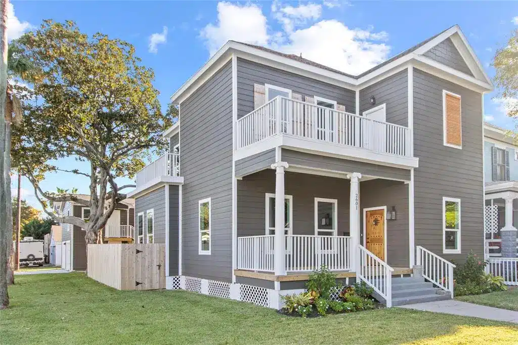
[[[171,98],[136,232],[165,241],[168,289],[279,308],[325,264],[389,306],[449,298],[448,261],[483,255],[492,89],[458,26],[358,76],[228,41]]]

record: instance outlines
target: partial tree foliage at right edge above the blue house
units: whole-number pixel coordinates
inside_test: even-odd
[[[518,30],[514,31],[505,47],[496,51],[493,67],[496,70],[494,82],[500,89],[501,102],[507,116],[514,119],[515,130],[511,134],[518,141]]]

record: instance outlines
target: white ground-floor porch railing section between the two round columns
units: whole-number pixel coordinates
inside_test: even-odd
[[[330,271],[351,269],[351,237],[286,235],[286,272],[311,271],[326,265]]]

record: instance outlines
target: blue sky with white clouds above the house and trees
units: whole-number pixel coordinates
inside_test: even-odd
[[[227,39],[303,53],[307,59],[357,74],[459,24],[492,77],[495,50],[518,29],[518,2],[12,1],[12,5],[9,38],[44,19],[69,19],[85,33],[102,32],[133,44],[142,63],[155,71],[164,109],[171,94]],[[511,129],[512,121],[495,96],[496,92],[485,96],[485,114],[492,123]],[[58,164],[84,167],[74,159]],[[37,206],[30,183],[22,185],[24,198]],[[70,174],[49,175],[42,183],[44,190],[56,187],[88,193],[88,181]]]

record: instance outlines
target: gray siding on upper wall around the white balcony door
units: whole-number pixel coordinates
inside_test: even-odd
[[[370,105],[374,96],[376,104]],[[359,111],[378,107],[385,103],[386,121],[400,126],[408,126],[408,71],[402,70],[359,92]]]

